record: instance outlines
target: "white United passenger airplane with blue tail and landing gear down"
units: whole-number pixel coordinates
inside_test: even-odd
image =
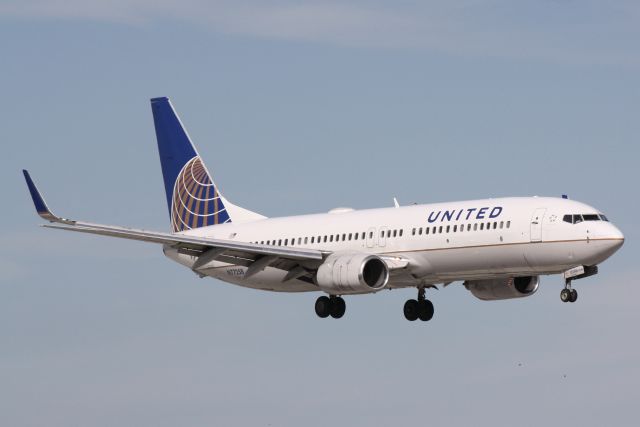
[[[407,320],[428,321],[427,289],[462,282],[481,300],[533,295],[540,276],[572,281],[624,243],[608,218],[566,196],[511,197],[267,218],[220,192],[170,100],[152,98],[171,232],[93,224],[55,215],[23,170],[44,227],[162,245],[164,255],[200,277],[276,292],[322,292],[321,318],[341,318],[344,296],[416,288]]]

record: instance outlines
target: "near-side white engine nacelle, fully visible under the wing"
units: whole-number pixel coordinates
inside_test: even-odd
[[[368,294],[384,289],[389,268],[379,257],[363,253],[337,253],[318,268],[316,283],[333,295]]]

